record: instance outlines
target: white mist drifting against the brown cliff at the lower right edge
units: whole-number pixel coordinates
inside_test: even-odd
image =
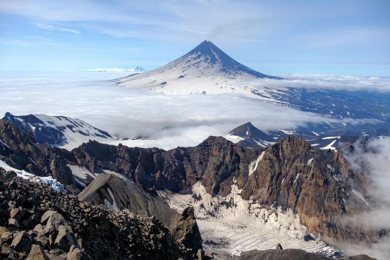
[[[350,216],[344,221],[349,225],[361,226],[373,230],[390,230],[390,138],[369,140],[366,145],[357,143],[353,153],[345,157],[352,169],[363,170],[372,180],[373,186],[368,190],[370,210],[362,214]],[[370,247],[343,244],[341,247],[347,254],[367,254],[370,257],[390,259],[390,235],[383,237]]]

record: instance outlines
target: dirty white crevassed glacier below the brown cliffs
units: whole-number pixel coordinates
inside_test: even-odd
[[[200,181],[193,186],[192,194],[157,192],[177,212],[194,207],[203,247],[213,252],[216,259],[227,259],[242,251],[274,248],[279,242],[283,248],[301,248],[328,256],[337,252],[310,234],[291,210],[243,200],[236,184],[231,185],[226,198],[212,197]]]

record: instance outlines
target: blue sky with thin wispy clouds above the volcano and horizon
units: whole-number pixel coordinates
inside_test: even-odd
[[[207,39],[262,73],[390,76],[389,12],[389,0],[0,0],[0,70],[153,69]]]

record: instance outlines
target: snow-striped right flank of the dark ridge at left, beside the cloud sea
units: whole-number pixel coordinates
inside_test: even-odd
[[[63,133],[63,143],[60,147],[65,149],[73,149],[89,140],[102,142],[114,140],[108,133],[93,127],[83,120],[47,115],[34,116],[43,121],[43,125],[58,129]]]

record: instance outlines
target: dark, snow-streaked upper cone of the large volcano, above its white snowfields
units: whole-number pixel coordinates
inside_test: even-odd
[[[195,62],[204,61],[209,64],[219,64],[221,71],[224,71],[226,73],[232,73],[234,75],[240,75],[242,72],[246,72],[258,78],[280,79],[277,77],[262,74],[239,63],[238,61],[234,60],[232,57],[224,53],[217,46],[215,46],[215,44],[210,40],[204,40],[190,52],[175,61],[188,60],[188,57],[191,57],[191,59]]]

